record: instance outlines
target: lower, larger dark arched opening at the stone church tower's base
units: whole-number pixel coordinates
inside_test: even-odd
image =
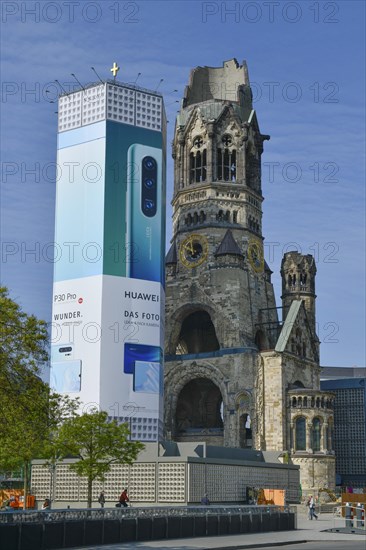
[[[223,399],[218,386],[208,378],[190,380],[180,391],[176,414],[175,434],[178,441],[202,440],[207,436],[222,438]],[[216,442],[215,442],[216,443]]]

